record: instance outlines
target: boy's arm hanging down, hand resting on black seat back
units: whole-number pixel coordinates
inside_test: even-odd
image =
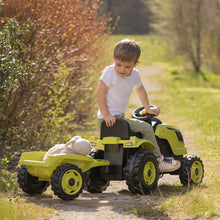
[[[98,90],[97,90],[98,105],[102,113],[102,116],[105,120],[106,126],[111,127],[115,124],[116,119],[114,116],[112,116],[109,113],[108,106],[107,106],[107,99],[106,99],[107,92],[108,92],[108,87],[105,85],[105,83],[102,80],[100,80]]]

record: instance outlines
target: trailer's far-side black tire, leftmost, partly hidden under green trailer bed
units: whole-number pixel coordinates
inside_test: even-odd
[[[25,165],[18,168],[17,178],[19,187],[30,195],[42,194],[49,186],[48,181],[39,181],[38,177],[29,174]]]

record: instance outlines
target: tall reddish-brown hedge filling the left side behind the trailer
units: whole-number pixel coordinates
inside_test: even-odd
[[[109,19],[99,13],[99,0],[3,3],[1,145],[48,148],[85,127],[96,110],[103,68],[97,59]]]

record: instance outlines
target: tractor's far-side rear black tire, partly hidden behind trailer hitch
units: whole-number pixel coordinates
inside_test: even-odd
[[[94,159],[103,159],[104,151],[93,149],[90,153]],[[85,189],[90,193],[102,193],[109,186],[110,181],[102,177],[102,167],[94,167],[85,173]]]

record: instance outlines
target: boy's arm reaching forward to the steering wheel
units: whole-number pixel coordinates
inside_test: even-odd
[[[160,108],[156,107],[155,109],[150,108],[150,102],[148,99],[147,91],[145,90],[144,86],[142,85],[141,87],[136,89],[137,95],[144,106],[144,108],[147,110],[147,113],[153,114],[155,116],[160,114]]]

